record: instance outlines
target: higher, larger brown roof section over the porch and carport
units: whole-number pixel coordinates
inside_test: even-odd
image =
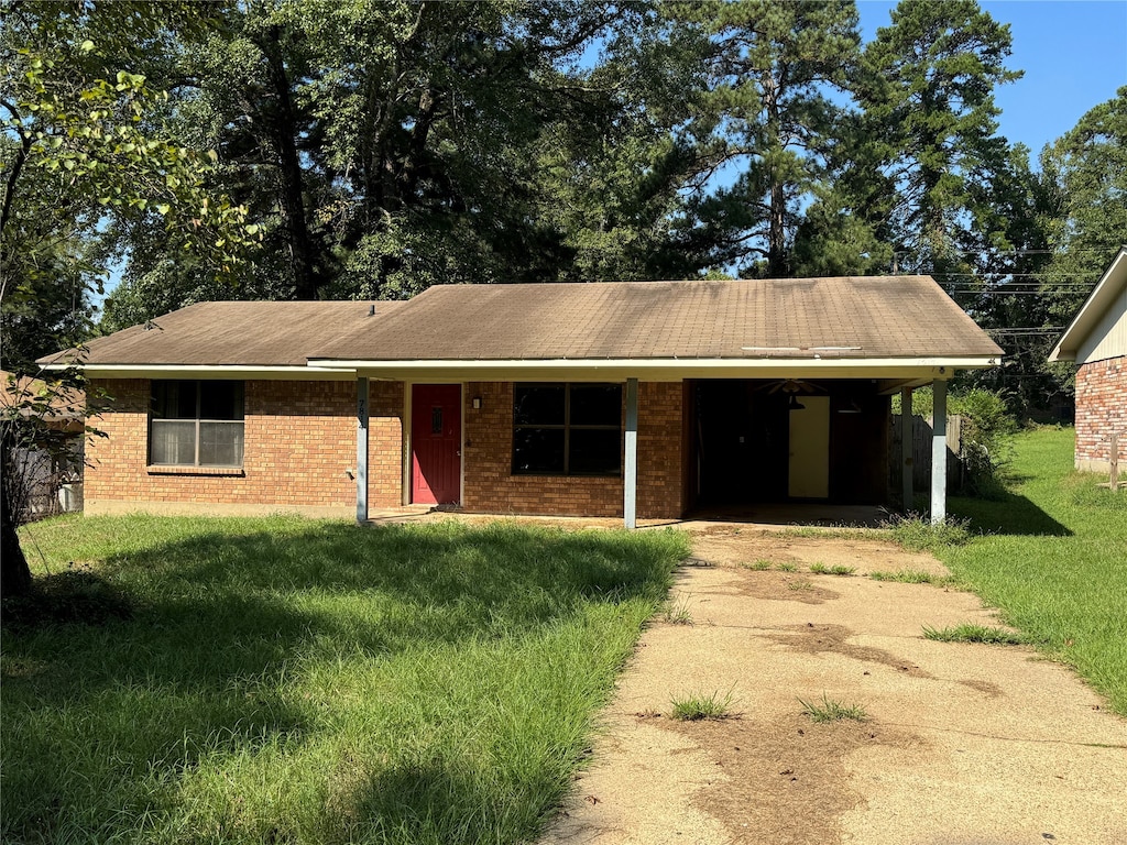
[[[339,361],[1002,354],[929,276],[438,286],[308,352]]]

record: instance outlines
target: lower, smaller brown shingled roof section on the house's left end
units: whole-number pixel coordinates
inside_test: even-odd
[[[201,302],[87,345],[89,364],[304,366],[313,347],[372,328],[405,302]],[[61,363],[74,353],[43,358]]]

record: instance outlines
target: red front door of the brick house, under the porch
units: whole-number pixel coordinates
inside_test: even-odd
[[[461,498],[462,386],[411,386],[411,501],[456,505]]]

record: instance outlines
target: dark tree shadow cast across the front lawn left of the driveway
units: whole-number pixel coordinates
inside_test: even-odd
[[[308,741],[334,702],[292,694],[302,667],[456,660],[462,643],[656,602],[676,560],[668,542],[610,532],[224,526],[105,561],[128,619],[6,632],[5,842],[128,838],[175,809],[202,759]],[[399,792],[402,818],[434,799],[423,785],[423,806]]]

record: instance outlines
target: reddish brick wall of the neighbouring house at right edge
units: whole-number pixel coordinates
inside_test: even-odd
[[[1107,472],[1110,437],[1127,463],[1127,356],[1093,361],[1076,372],[1076,469]]]

